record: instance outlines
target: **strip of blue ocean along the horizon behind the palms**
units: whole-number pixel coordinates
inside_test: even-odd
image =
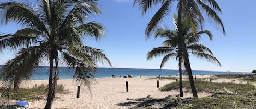
[[[38,72],[33,76],[34,80],[49,79],[49,67],[40,67]],[[249,74],[246,72],[216,72],[216,71],[199,71],[193,70],[193,75],[216,75],[216,74]],[[67,67],[59,67],[59,78],[61,79],[72,79],[74,70],[68,72]],[[123,77],[133,75],[134,77],[139,76],[178,76],[178,70],[166,70],[166,69],[136,69],[136,68],[97,68],[95,78],[111,78],[112,75],[115,77]]]

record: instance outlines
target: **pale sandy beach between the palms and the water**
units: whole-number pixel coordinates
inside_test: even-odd
[[[197,75],[197,78],[210,77],[208,75]],[[156,79],[149,77],[136,78],[100,78],[97,83],[92,85],[92,93],[82,88],[80,98],[76,98],[77,86],[72,84],[72,79],[58,80],[58,84],[65,85],[69,94],[57,94],[52,108],[130,108],[135,106],[140,99],[146,98],[165,98],[167,96],[175,97],[179,91],[160,92],[157,88]],[[128,92],[126,92],[126,81],[128,81]],[[159,87],[162,87],[175,80],[159,80]],[[213,80],[215,81],[215,80]],[[232,82],[234,80],[221,79],[218,81]],[[216,82],[216,81],[215,81]],[[32,87],[33,85],[47,84],[47,80],[34,80],[30,84],[24,84],[23,87]],[[199,97],[210,95],[209,93],[198,93]],[[192,93],[184,93],[183,98],[193,97]],[[29,108],[44,108],[46,100],[31,101]]]

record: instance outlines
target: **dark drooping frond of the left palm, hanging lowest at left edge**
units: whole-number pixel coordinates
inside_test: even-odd
[[[3,84],[1,86],[5,89],[14,86],[16,90],[22,80],[30,80],[32,74],[37,71],[41,59],[46,56],[46,48],[46,44],[41,44],[20,50],[14,59],[9,60],[2,67],[0,78]]]

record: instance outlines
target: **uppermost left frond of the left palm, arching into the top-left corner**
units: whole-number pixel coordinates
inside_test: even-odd
[[[17,22],[23,26],[28,26],[36,30],[40,30],[41,33],[47,34],[47,29],[44,22],[40,20],[37,13],[31,7],[29,3],[17,3],[17,2],[4,2],[0,4],[0,11],[3,13],[2,22],[7,24],[10,21]]]

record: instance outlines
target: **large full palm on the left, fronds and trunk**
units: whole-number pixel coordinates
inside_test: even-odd
[[[97,0],[42,0],[38,8],[28,2],[2,2],[2,21],[14,21],[23,29],[14,34],[0,35],[0,50],[15,51],[16,55],[1,69],[1,90],[6,95],[11,87],[17,91],[22,80],[30,80],[39,65],[49,66],[49,85],[45,109],[52,106],[58,78],[59,62],[74,69],[74,81],[90,89],[97,62],[109,59],[101,49],[86,46],[83,37],[99,40],[105,28],[87,17],[101,13]]]

